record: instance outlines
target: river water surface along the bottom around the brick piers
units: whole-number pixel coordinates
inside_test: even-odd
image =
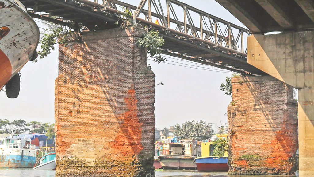
[[[0,177],[54,177],[54,170],[34,169],[0,169]],[[165,170],[156,171],[156,177],[297,177],[296,176],[265,176],[265,175],[228,175],[219,172],[197,172],[195,170]]]

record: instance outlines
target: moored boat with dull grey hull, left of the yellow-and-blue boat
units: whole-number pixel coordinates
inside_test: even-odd
[[[196,140],[165,141],[162,153],[158,158],[164,169],[196,169],[194,158],[201,154],[201,146]]]

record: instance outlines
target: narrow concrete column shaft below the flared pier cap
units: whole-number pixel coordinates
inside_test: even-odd
[[[314,176],[314,88],[298,91],[299,174]]]

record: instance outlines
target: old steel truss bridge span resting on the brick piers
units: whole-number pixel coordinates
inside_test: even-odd
[[[98,0],[101,4],[95,3],[97,0],[20,2],[34,18],[74,29],[85,26],[88,30],[116,28],[117,15],[123,14],[117,7],[123,6],[135,12],[138,23],[160,31],[160,36],[165,39],[161,48],[163,54],[243,75],[265,74],[247,63],[243,39],[251,34],[249,30],[177,0],[140,0],[138,6],[118,0]],[[146,3],[148,9],[144,9]],[[140,18],[141,15],[143,18]],[[160,20],[161,25],[154,23],[156,19]]]

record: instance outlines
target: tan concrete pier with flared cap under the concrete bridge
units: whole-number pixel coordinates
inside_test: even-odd
[[[299,174],[314,176],[314,31],[247,38],[248,63],[298,88]]]

